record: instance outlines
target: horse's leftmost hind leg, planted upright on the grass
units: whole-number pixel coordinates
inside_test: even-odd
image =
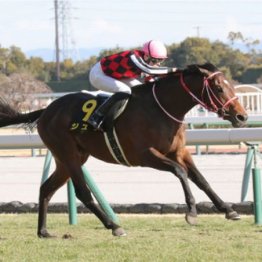
[[[37,235],[39,237],[52,237],[46,229],[48,203],[57,189],[63,186],[68,178],[64,172],[62,173],[59,169],[56,169],[40,187],[37,229]]]

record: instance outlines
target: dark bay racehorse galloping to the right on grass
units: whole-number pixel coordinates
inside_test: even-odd
[[[0,103],[0,127],[37,123],[38,133],[55,159],[55,171],[40,188],[39,237],[52,236],[46,226],[48,203],[69,178],[77,198],[104,226],[115,236],[125,235],[124,229],[95,204],[84,180],[81,166],[90,155],[108,163],[118,162],[108,149],[103,132],[91,127],[85,131],[70,128],[75,116],[80,114],[83,97],[95,98],[91,94],[71,93],[30,113],[19,113],[8,103]],[[197,209],[188,178],[227,219],[237,220],[238,213],[213,191],[185,146],[184,117],[197,104],[229,120],[234,127],[246,125],[247,113],[237,100],[233,86],[214,65],[206,63],[190,65],[155,82],[134,87],[124,112],[115,120],[114,130],[130,166],[169,171],[180,180],[188,207],[185,219],[189,224],[197,223]]]

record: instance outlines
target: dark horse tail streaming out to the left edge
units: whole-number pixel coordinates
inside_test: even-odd
[[[19,113],[11,108],[5,101],[0,100],[0,127],[18,125],[18,124],[33,124],[45,111],[45,109],[36,110],[30,113]]]

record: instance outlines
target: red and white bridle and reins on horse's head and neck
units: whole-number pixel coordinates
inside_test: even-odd
[[[226,110],[228,108],[228,106],[236,99],[238,99],[237,96],[234,96],[230,99],[228,99],[225,103],[223,103],[217,96],[216,94],[213,92],[212,87],[210,86],[209,81],[218,74],[222,74],[222,72],[217,71],[212,73],[211,75],[209,75],[208,77],[204,77],[204,81],[203,81],[203,88],[202,88],[202,92],[201,92],[201,99],[200,100],[195,94],[193,94],[190,90],[190,88],[187,86],[187,84],[184,81],[183,78],[183,73],[180,73],[180,84],[182,85],[182,87],[184,88],[184,90],[193,98],[193,100],[195,100],[198,104],[200,104],[201,106],[203,106],[205,109],[217,113],[219,117],[224,117],[226,116]],[[175,122],[178,123],[184,123],[184,121],[177,119],[176,117],[172,116],[170,113],[168,113],[168,111],[161,105],[161,103],[159,102],[157,96],[156,96],[156,92],[155,92],[155,86],[156,84],[153,85],[152,88],[152,92],[153,92],[153,96],[154,99],[156,101],[156,103],[158,104],[158,106],[162,109],[162,111],[172,120],[174,120]],[[210,106],[204,102],[204,94],[207,94],[207,98],[208,98],[208,102],[210,104]],[[219,107],[216,105],[215,101],[220,105]]]

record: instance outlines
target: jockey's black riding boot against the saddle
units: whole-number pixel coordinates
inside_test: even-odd
[[[118,92],[110,96],[98,109],[90,116],[87,123],[92,125],[94,129],[102,130],[102,125],[107,118],[110,122],[114,120],[115,114],[123,106],[123,103],[130,96],[124,92]],[[108,121],[107,121],[108,122]]]

